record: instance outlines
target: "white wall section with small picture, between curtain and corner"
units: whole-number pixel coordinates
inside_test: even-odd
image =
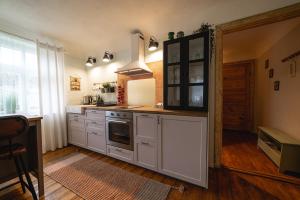
[[[81,78],[80,91],[70,90],[70,76]],[[65,54],[65,99],[67,105],[81,104],[82,97],[87,95],[88,76],[85,67],[85,60]]]

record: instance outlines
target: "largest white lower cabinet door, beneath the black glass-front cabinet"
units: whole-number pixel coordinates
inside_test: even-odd
[[[160,172],[207,187],[207,118],[161,115],[158,141]]]

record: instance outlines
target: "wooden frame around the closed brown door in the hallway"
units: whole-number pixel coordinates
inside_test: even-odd
[[[255,80],[254,80],[254,67],[255,67],[255,60],[251,59],[251,60],[240,60],[240,61],[234,61],[234,62],[227,62],[227,63],[223,63],[222,68],[224,67],[224,65],[239,65],[239,64],[249,64],[249,74],[247,75],[249,78],[249,124],[250,124],[250,132],[252,132],[254,130],[254,87],[255,87]],[[222,77],[223,77],[223,72],[222,72]],[[222,80],[223,81],[223,80]],[[222,88],[223,90],[223,88]],[[222,108],[223,108],[223,102],[222,102]],[[223,110],[222,110],[223,112]],[[223,124],[222,124],[223,126]],[[222,127],[223,128],[223,127]]]

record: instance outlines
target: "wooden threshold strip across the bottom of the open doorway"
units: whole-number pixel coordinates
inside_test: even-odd
[[[264,177],[264,178],[281,181],[281,182],[285,182],[285,183],[292,183],[295,185],[300,185],[300,178],[296,178],[296,177],[276,176],[273,174],[267,174],[267,173],[263,173],[263,172],[259,172],[259,171],[243,170],[243,169],[228,167],[228,166],[224,166],[224,165],[222,165],[222,168],[228,169],[231,171],[235,171],[238,173],[248,174],[248,175],[252,175],[252,176],[259,176],[259,177]]]

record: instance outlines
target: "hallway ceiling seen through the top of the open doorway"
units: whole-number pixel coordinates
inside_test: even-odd
[[[224,35],[223,60],[256,59],[300,26],[300,17]]]

